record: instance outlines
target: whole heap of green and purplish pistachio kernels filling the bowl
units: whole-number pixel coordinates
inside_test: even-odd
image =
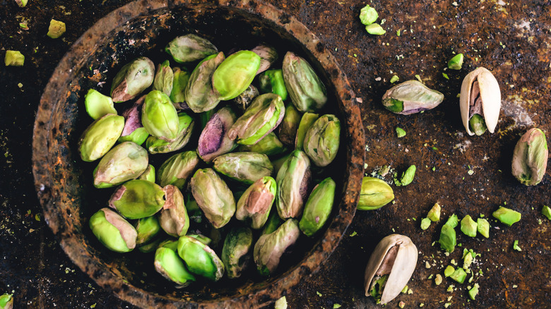
[[[188,34],[165,51],[172,59],[156,70],[138,57],[109,96],[85,96],[95,121],[78,150],[99,160],[95,188],[113,190],[90,229],[114,252],[154,252],[157,272],[179,287],[239,277],[249,260],[271,275],[333,208],[336,183],[324,167],[338,152],[340,121],[320,114],[326,88],[292,52],[271,68],[278,52],[266,44],[226,57]],[[172,155],[153,166],[159,153]]]

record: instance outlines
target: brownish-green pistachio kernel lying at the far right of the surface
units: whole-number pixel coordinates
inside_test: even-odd
[[[537,185],[545,176],[548,157],[545,133],[531,128],[516,143],[511,164],[513,176],[526,186]]]

